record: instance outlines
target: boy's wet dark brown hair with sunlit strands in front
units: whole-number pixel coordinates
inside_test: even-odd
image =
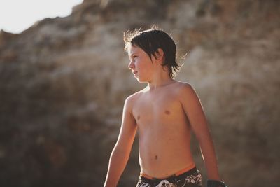
[[[151,59],[152,55],[156,57],[155,54],[161,48],[165,55],[162,66],[168,67],[169,76],[174,78],[176,72],[179,71],[180,65],[176,62],[176,44],[169,34],[162,29],[152,27],[144,31],[141,31],[141,29],[135,29],[133,32],[127,31],[123,34],[123,40],[125,41],[126,51],[131,44],[144,50]]]

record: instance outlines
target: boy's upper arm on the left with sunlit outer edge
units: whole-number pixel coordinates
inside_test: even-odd
[[[123,120],[120,127],[120,134],[118,135],[118,141],[116,148],[122,151],[127,151],[132,148],[132,144],[137,132],[137,124],[132,115],[133,98],[127,97],[125,105],[123,106]]]

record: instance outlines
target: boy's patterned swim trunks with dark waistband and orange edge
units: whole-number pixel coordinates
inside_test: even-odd
[[[137,187],[201,187],[202,175],[200,171],[193,169],[183,174],[173,174],[165,179],[150,179],[150,177],[140,176]]]

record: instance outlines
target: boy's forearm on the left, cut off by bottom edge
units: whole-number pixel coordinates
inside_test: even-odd
[[[127,160],[130,153],[125,151],[113,149],[109,161],[109,168],[106,176],[104,187],[116,187],[120,179],[121,174],[127,165]]]

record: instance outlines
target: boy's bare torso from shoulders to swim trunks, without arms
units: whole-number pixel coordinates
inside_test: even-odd
[[[132,114],[138,125],[141,172],[163,178],[193,165],[190,123],[180,102],[182,83],[135,95]]]

